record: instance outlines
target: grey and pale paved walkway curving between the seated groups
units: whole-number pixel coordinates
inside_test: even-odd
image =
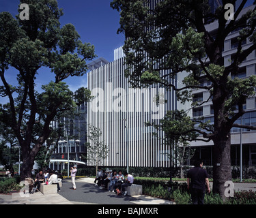
[[[143,195],[116,196],[112,192],[94,187],[94,178],[79,178],[76,180],[76,190],[72,190],[71,187],[70,179],[65,179],[59,193],[0,195],[0,204],[173,204],[168,200]]]

